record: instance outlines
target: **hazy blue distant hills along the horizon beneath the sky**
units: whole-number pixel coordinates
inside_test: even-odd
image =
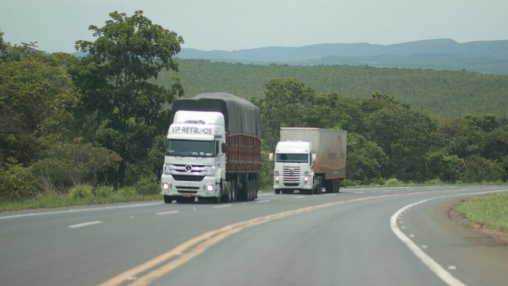
[[[260,65],[368,65],[508,74],[508,40],[457,43],[436,39],[393,45],[317,44],[234,51],[183,48],[177,58]]]

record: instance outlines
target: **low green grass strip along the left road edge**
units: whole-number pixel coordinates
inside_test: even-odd
[[[92,204],[108,204],[120,202],[150,201],[161,199],[162,195],[142,195],[142,194],[114,194],[109,197],[71,197],[68,195],[54,194],[36,199],[29,199],[19,202],[0,202],[0,212],[20,211],[27,209],[56,208],[70,206],[85,206]]]

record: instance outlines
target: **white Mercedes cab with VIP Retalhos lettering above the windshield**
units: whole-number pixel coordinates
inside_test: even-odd
[[[219,184],[226,177],[224,115],[177,111],[167,139],[161,176],[165,201],[219,197]]]

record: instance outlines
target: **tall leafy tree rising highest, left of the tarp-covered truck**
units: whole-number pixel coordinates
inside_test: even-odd
[[[88,54],[71,74],[82,111],[94,115],[93,139],[122,157],[118,180],[123,184],[128,163],[146,156],[155,136],[167,128],[170,113],[163,107],[183,95],[178,79],[169,89],[149,81],[163,69],[178,71],[173,56],[183,39],[142,11],[109,15],[103,27],[89,26],[94,42],[76,42],[76,49]]]

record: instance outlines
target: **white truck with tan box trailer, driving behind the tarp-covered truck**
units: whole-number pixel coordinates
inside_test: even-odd
[[[339,192],[346,175],[347,132],[321,128],[280,128],[275,154],[275,193]]]

